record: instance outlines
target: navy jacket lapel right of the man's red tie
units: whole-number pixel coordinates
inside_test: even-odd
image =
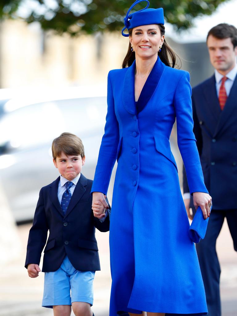
[[[220,120],[216,126],[215,135],[222,129],[227,119],[231,116],[234,109],[237,107],[237,76],[235,77],[233,86],[230,90],[230,94],[227,98],[224,109],[221,111]]]

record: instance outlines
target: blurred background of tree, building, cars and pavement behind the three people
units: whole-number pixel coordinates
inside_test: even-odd
[[[121,68],[121,36],[131,1],[0,0],[0,316],[52,315],[42,308],[43,274],[24,268],[27,237],[40,188],[58,176],[51,143],[61,132],[85,147],[83,173],[93,179],[106,116],[106,81]],[[213,73],[205,40],[218,23],[237,27],[236,0],[150,1],[163,7],[166,39],[191,74],[191,85]],[[140,7],[140,9],[142,6]],[[136,9],[139,9],[139,5]],[[171,135],[182,185],[182,159]],[[113,170],[108,198],[112,200]],[[94,313],[107,316],[108,233],[97,232],[102,270],[94,282]],[[224,223],[217,240],[223,316],[237,315],[237,257]]]

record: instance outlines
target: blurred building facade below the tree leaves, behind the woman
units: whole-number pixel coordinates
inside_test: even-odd
[[[182,69],[191,72],[192,85],[210,76],[213,70],[205,43],[180,44],[169,37],[168,42],[181,57]],[[128,39],[119,32],[71,38],[43,32],[37,22],[4,21],[0,88],[103,83],[110,69],[121,67],[127,47]]]

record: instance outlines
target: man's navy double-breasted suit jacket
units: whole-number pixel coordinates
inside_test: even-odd
[[[192,90],[194,134],[213,209],[237,207],[237,77],[221,111],[215,76]],[[184,192],[189,192],[184,172]]]

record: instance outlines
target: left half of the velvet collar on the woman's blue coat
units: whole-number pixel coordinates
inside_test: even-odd
[[[136,69],[136,59],[132,63],[128,70],[126,71],[123,84],[123,104],[125,109],[131,113],[136,114],[136,104],[135,104],[135,69]]]

